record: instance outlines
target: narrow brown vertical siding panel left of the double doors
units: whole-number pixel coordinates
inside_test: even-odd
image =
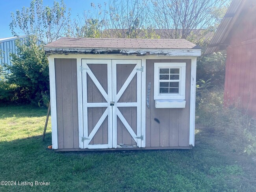
[[[55,59],[58,148],[79,148],[76,59]]]

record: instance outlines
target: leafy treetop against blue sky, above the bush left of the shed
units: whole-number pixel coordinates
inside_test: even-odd
[[[11,13],[10,30],[17,36],[17,31],[23,34],[35,35],[39,41],[48,43],[62,37],[67,30],[70,10],[66,13],[66,5],[54,1],[53,7],[43,6],[43,0],[32,0],[30,7]]]

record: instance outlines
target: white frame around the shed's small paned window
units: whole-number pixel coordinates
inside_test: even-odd
[[[160,68],[180,68],[179,93],[159,93]],[[185,100],[186,63],[154,63],[154,100]]]

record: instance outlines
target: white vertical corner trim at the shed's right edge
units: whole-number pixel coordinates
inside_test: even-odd
[[[191,59],[189,145],[195,146],[195,101],[196,101],[197,57]]]

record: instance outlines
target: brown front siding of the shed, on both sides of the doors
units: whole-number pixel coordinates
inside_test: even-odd
[[[186,63],[186,107],[156,109],[154,63]],[[55,59],[58,150],[81,150],[78,136],[76,59]],[[146,148],[189,147],[191,59],[147,59],[146,92],[151,82],[150,109],[146,107]],[[142,98],[144,99],[144,98]],[[160,123],[158,123],[159,120]],[[106,135],[107,136],[107,135]],[[102,137],[101,137],[102,138]],[[104,137],[103,137],[104,138]]]

